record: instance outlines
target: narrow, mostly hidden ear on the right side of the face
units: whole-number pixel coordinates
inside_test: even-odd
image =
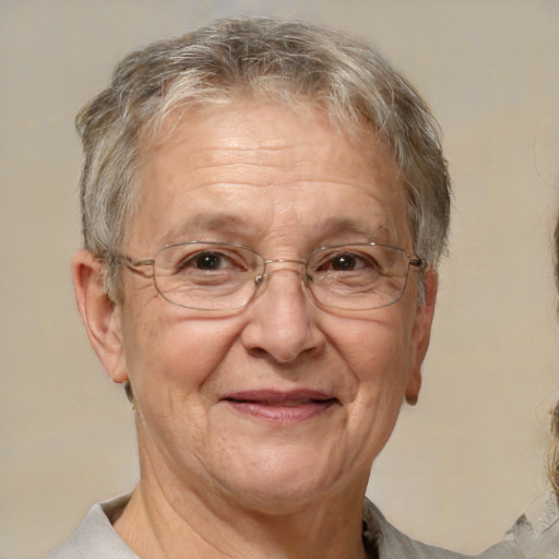
[[[435,270],[425,272],[425,302],[417,306],[414,330],[412,331],[409,371],[406,383],[406,402],[417,404],[421,389],[421,365],[431,338],[435,301],[439,286],[439,276]]]

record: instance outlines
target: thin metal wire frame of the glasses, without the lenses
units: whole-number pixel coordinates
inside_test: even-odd
[[[187,245],[210,245],[210,246],[216,246],[216,247],[233,247],[233,248],[249,250],[250,252],[252,252],[253,254],[255,254],[257,257],[262,259],[263,272],[261,274],[255,274],[254,275],[254,290],[253,290],[252,295],[250,296],[250,298],[246,302],[243,302],[242,305],[238,305],[236,307],[228,307],[228,308],[225,308],[225,309],[205,309],[205,308],[200,308],[200,307],[190,307],[190,306],[181,305],[179,302],[175,302],[175,301],[171,301],[170,299],[168,299],[165,296],[165,294],[163,294],[160,292],[160,289],[158,288],[158,286],[157,286],[157,280],[156,280],[156,276],[155,276],[155,260],[157,258],[157,254],[159,254],[160,252],[163,252],[166,249],[170,249],[170,248],[174,248],[174,247],[182,247],[182,246],[187,246]],[[405,274],[404,285],[402,286],[402,292],[401,292],[400,296],[396,299],[394,299],[393,301],[390,301],[390,302],[386,302],[386,304],[383,304],[383,305],[379,305],[379,306],[376,306],[376,307],[364,308],[364,309],[347,309],[347,308],[344,308],[344,307],[328,305],[328,304],[324,304],[324,302],[320,301],[317,298],[317,296],[314,295],[313,290],[312,290],[312,287],[311,287],[312,276],[309,274],[309,271],[308,271],[309,260],[312,257],[312,254],[314,254],[316,252],[319,252],[321,250],[340,249],[340,248],[343,248],[343,247],[359,247],[359,246],[360,247],[381,247],[381,248],[385,248],[385,249],[392,249],[392,250],[396,250],[397,252],[400,252],[401,254],[403,254],[403,255],[405,255],[407,258],[407,270],[406,270],[406,274]],[[391,245],[380,245],[378,242],[344,242],[342,245],[332,245],[332,246],[326,246],[326,247],[319,247],[319,248],[314,249],[310,253],[310,255],[309,255],[309,258],[307,260],[302,260],[302,259],[273,259],[273,260],[266,260],[266,259],[264,259],[264,257],[262,257],[262,254],[257,252],[253,248],[247,247],[246,245],[239,245],[239,243],[236,243],[236,242],[219,242],[219,241],[205,241],[205,240],[191,240],[191,241],[186,241],[186,242],[175,242],[173,245],[166,245],[165,247],[160,248],[154,254],[153,258],[148,258],[148,259],[134,259],[134,258],[132,258],[132,257],[130,257],[128,254],[123,254],[123,253],[117,254],[117,258],[122,260],[124,262],[126,266],[131,272],[133,272],[135,274],[139,274],[139,275],[141,275],[143,277],[146,277],[146,278],[150,277],[150,276],[144,274],[144,273],[142,273],[142,271],[139,270],[139,269],[142,267],[142,266],[152,266],[152,275],[151,275],[151,277],[153,280],[153,285],[155,287],[155,290],[162,296],[163,299],[165,299],[170,305],[175,305],[175,306],[181,307],[183,309],[200,310],[200,311],[204,311],[204,312],[227,312],[227,311],[234,311],[234,310],[242,309],[243,307],[249,305],[249,302],[257,295],[260,286],[264,283],[264,281],[267,277],[267,274],[266,274],[266,265],[267,264],[296,263],[296,264],[304,265],[305,266],[304,283],[305,283],[305,286],[307,287],[308,292],[312,296],[313,300],[316,302],[318,302],[320,306],[322,306],[322,307],[324,307],[326,309],[336,309],[336,310],[340,310],[340,311],[343,311],[343,312],[362,312],[362,311],[369,311],[369,310],[374,310],[374,309],[382,309],[384,307],[390,307],[391,305],[395,305],[400,299],[402,299],[402,297],[404,296],[404,293],[406,290],[407,280],[409,277],[409,269],[413,266],[413,267],[417,267],[418,270],[424,270],[426,267],[426,265],[427,265],[425,260],[423,260],[419,257],[413,257],[413,255],[408,254],[404,249],[402,249],[400,247],[392,247]]]

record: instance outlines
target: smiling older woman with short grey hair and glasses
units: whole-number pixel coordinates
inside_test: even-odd
[[[141,480],[49,558],[461,557],[365,500],[449,224],[415,90],[335,32],[221,21],[130,55],[78,124],[76,302]]]

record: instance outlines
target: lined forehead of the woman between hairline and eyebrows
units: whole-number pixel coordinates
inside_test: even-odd
[[[144,144],[140,193],[132,229],[142,243],[258,228],[263,214],[260,225],[276,233],[288,214],[294,230],[385,229],[392,242],[407,231],[391,151],[371,131],[333,126],[320,107],[241,98],[177,112]]]

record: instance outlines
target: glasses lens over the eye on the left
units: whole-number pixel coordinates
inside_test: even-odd
[[[254,294],[261,257],[237,245],[187,242],[155,257],[155,286],[169,302],[200,310],[226,310],[247,305]]]

